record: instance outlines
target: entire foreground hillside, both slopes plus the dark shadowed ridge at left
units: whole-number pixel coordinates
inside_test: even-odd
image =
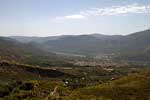
[[[0,100],[150,100],[149,70],[92,85],[79,82],[49,68],[0,63]]]

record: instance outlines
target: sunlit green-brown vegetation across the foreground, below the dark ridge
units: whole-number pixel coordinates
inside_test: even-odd
[[[1,82],[0,97],[1,100],[150,100],[149,79],[150,71],[143,71],[75,89],[51,79]]]

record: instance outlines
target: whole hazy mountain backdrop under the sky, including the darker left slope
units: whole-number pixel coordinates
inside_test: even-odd
[[[61,59],[60,55],[150,61],[150,30],[126,36],[0,37],[0,59],[40,62],[43,65]]]

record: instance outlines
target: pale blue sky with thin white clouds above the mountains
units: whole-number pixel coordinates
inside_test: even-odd
[[[0,0],[0,36],[126,35],[150,28],[150,0]]]

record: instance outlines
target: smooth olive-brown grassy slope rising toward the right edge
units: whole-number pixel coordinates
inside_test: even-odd
[[[150,100],[150,71],[73,91],[67,100]]]

